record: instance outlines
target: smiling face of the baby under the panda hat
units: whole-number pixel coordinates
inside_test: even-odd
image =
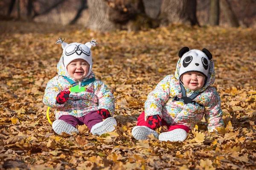
[[[181,80],[187,88],[195,91],[204,86],[205,77],[198,72],[188,72],[182,75]]]

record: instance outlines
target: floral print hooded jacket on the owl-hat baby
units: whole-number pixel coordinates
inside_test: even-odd
[[[108,110],[111,115],[115,111],[114,97],[108,87],[98,79],[84,86],[85,91],[80,93],[71,92],[69,99],[64,104],[58,104],[56,101],[57,94],[61,91],[71,88],[72,85],[63,76],[72,79],[80,84],[76,79],[69,76],[63,64],[63,55],[57,65],[58,76],[53,77],[47,83],[44,92],[43,102],[50,108],[55,109],[55,118],[58,119],[62,115],[73,115],[76,117],[84,116],[90,111],[96,111],[99,108]],[[95,77],[93,72],[85,77],[81,82]]]

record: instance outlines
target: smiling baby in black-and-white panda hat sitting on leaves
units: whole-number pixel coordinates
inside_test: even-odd
[[[224,126],[221,99],[216,89],[212,54],[207,50],[180,49],[175,75],[168,75],[148,94],[145,112],[138,117],[132,135],[145,140],[151,133],[160,141],[184,141],[203,116],[208,131]],[[168,132],[155,128],[166,125]]]

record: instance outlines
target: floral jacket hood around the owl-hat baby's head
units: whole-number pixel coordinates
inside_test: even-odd
[[[64,66],[64,60],[63,60],[63,59],[64,59],[64,58],[63,58],[63,54],[62,54],[62,55],[61,55],[61,59],[59,60],[58,65],[57,65],[57,73],[58,73],[58,75],[59,75],[59,76],[65,76],[65,77],[67,77],[67,78],[69,78],[69,79],[72,79],[74,82],[76,82],[77,80],[74,79],[73,77],[70,77],[70,75],[67,73],[67,69],[66,69],[65,66]],[[90,79],[90,78],[92,78],[92,77],[95,77],[93,71],[91,71],[91,72],[89,73],[89,75],[87,75],[86,77],[84,77],[83,79],[81,79],[81,82],[84,82],[84,81],[86,81],[87,79]]]

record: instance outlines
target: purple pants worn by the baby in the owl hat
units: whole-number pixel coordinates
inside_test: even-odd
[[[102,122],[103,117],[98,114],[97,111],[90,111],[86,115],[79,118],[72,115],[62,115],[59,119],[64,120],[73,127],[76,127],[76,125],[87,125],[91,130],[93,125]]]

